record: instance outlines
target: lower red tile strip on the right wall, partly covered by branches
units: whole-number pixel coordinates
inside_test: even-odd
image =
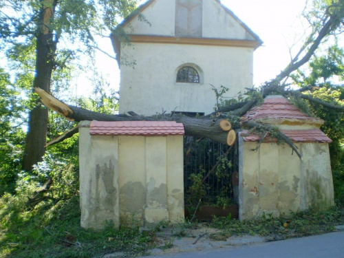
[[[290,140],[294,142],[332,142],[325,133],[320,129],[308,129],[308,130],[281,130]],[[248,133],[248,131],[243,131],[243,134]],[[244,136],[245,142],[256,142],[260,140],[260,137],[252,134],[250,136]],[[267,142],[273,141],[271,138],[266,138]]]

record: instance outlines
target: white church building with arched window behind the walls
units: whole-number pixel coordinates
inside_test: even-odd
[[[211,85],[229,88],[226,98],[252,87],[253,52],[262,44],[218,0],[149,0],[111,40],[120,66],[120,114],[145,116],[211,113]]]

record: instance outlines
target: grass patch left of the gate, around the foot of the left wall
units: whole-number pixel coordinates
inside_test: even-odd
[[[101,257],[111,252],[133,257],[155,247],[154,233],[140,232],[135,222],[119,229],[110,224],[100,231],[80,228],[78,196],[32,209],[13,199],[0,206],[0,257]]]

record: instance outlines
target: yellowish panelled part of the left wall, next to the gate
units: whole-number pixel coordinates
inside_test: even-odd
[[[119,137],[120,221],[145,226],[184,219],[182,136]]]

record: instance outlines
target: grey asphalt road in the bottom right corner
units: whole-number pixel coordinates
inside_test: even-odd
[[[154,258],[344,258],[344,232],[328,233],[311,237],[272,241],[252,246],[203,250],[202,252],[184,252],[175,255],[155,256]]]

